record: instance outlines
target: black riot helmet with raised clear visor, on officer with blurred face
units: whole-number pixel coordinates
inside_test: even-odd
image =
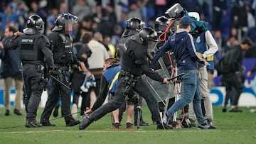
[[[64,31],[65,24],[67,23],[78,23],[79,18],[70,13],[61,13],[55,19],[55,27],[53,31]]]

